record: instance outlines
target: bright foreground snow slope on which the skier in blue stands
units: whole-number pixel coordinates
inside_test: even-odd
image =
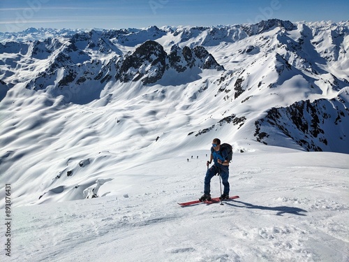
[[[200,196],[205,175],[205,159],[177,157],[128,170],[135,180],[152,174],[127,194],[14,208],[11,261],[348,260],[346,155],[234,157],[231,192],[240,198],[223,206],[177,205]],[[218,177],[211,187],[218,195]]]

